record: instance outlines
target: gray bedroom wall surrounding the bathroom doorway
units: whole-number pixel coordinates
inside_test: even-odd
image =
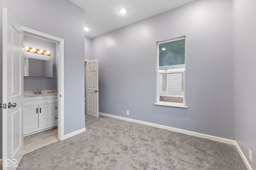
[[[20,25],[64,39],[64,134],[84,128],[84,10],[69,0],[1,1],[1,63],[3,7],[10,10]],[[2,70],[2,64],[0,64],[0,70]],[[0,88],[2,89],[2,78]],[[0,98],[2,100],[2,92]],[[2,127],[2,111],[0,115]],[[2,133],[2,128],[0,132]],[[2,154],[2,147],[0,149]]]

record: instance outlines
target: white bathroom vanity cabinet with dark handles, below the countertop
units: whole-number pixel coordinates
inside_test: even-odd
[[[58,125],[57,96],[24,98],[24,137]]]

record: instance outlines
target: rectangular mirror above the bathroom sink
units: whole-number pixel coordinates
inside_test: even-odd
[[[53,77],[52,61],[24,57],[24,77]]]

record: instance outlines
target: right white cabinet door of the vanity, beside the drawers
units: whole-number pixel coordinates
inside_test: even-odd
[[[38,127],[44,127],[52,124],[52,104],[39,105]]]

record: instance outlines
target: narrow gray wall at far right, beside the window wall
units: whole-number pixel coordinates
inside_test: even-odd
[[[233,0],[236,142],[256,169],[256,1]],[[249,151],[252,151],[252,162]]]

